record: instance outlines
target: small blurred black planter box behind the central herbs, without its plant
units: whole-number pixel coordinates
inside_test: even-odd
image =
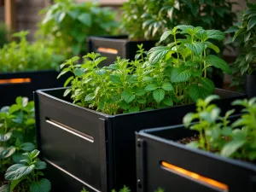
[[[143,44],[145,50],[154,47],[156,41],[131,41],[127,36],[101,36],[87,38],[88,52],[100,53],[107,56],[106,61],[102,61],[102,66],[113,64],[117,56],[123,59],[134,60],[138,50],[137,44]]]

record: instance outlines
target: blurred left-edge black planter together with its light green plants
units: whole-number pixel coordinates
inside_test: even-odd
[[[32,91],[60,86],[63,81],[57,80],[57,69],[63,56],[43,41],[28,43],[28,32],[17,32],[13,35],[19,42],[4,44],[0,49],[0,94],[4,99],[0,107],[10,105],[17,96],[32,99]]]

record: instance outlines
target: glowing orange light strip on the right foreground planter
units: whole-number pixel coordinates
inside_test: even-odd
[[[186,177],[190,177],[193,178],[195,180],[200,181],[201,183],[206,183],[207,185],[210,185],[212,187],[215,187],[217,189],[221,189],[224,192],[228,192],[229,191],[229,187],[228,185],[224,184],[224,183],[220,183],[218,181],[213,180],[212,178],[208,178],[208,177],[203,177],[195,172],[189,172],[188,170],[185,170],[181,167],[178,166],[173,166],[172,164],[166,163],[165,161],[161,162],[161,165],[167,169],[169,169],[172,172],[177,172],[180,174],[183,174]]]

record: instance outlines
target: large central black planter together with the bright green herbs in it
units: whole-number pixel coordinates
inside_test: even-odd
[[[140,46],[135,61],[118,57],[101,68],[107,58],[99,54],[85,55],[84,64],[73,57],[60,73],[74,73],[66,82],[71,87],[35,92],[38,148],[52,166],[48,177],[64,178],[62,187],[70,191],[81,189],[81,183],[101,191],[124,184],[136,189],[135,131],[181,123],[198,98],[214,91],[223,98],[224,111],[244,97],[215,89],[206,78],[209,66],[230,73],[225,61],[207,54],[207,49],[218,51],[211,39],[221,40],[223,32],[176,26],[160,40],[171,35],[172,45],[154,47],[146,58]]]

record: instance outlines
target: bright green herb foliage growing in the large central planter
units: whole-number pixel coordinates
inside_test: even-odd
[[[176,35],[184,38],[177,39]],[[216,55],[207,55],[207,49],[219,51],[210,42],[222,40],[224,33],[194,26],[176,26],[165,32],[160,41],[172,35],[169,46],[154,47],[144,58],[139,46],[135,61],[120,59],[109,67],[98,67],[106,60],[99,54],[87,54],[89,60],[77,64],[73,57],[61,65],[62,72],[72,72],[64,86],[71,82],[64,96],[71,93],[73,102],[103,113],[132,113],[172,105],[189,104],[211,95],[214,84],[207,79],[207,67],[213,66],[230,73],[230,67]]]

